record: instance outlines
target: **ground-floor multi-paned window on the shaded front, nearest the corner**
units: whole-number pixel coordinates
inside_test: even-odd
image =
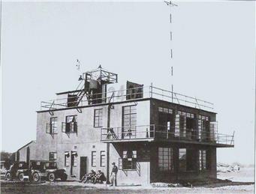
[[[173,171],[173,148],[158,148],[158,169]]]

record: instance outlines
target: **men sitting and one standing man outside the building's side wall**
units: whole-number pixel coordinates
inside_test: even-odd
[[[116,174],[118,172],[118,168],[116,166],[116,163],[112,163],[113,168],[111,171],[111,186],[116,186]],[[91,170],[88,174],[84,175],[81,179],[80,183],[86,184],[88,181],[91,181],[93,184],[100,183],[103,184],[103,181],[106,181],[106,177],[104,173],[101,170],[98,170],[98,172],[95,172],[94,170]]]

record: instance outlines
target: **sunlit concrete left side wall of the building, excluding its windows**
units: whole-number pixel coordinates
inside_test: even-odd
[[[113,109],[110,109],[110,127],[122,127],[122,106],[136,105],[137,106],[137,125],[149,124],[149,100],[139,101],[137,103],[116,103]],[[38,160],[49,160],[50,152],[57,152],[57,164],[59,168],[66,169],[69,178],[71,178],[71,166],[65,166],[65,151],[71,154],[71,151],[77,151],[77,166],[73,167],[73,175],[76,179],[80,178],[80,157],[87,157],[87,172],[91,169],[95,171],[101,169],[106,175],[106,167],[100,166],[100,153],[106,151],[107,144],[101,142],[101,128],[94,127],[94,110],[103,109],[102,123],[103,127],[107,127],[107,105],[104,106],[89,106],[82,108],[82,112],[77,109],[64,109],[50,112],[38,112],[37,124],[37,148],[36,157]],[[62,122],[65,122],[67,115],[77,115],[77,133],[62,133]],[[50,135],[46,133],[46,125],[50,124],[50,118],[57,117],[57,134]],[[96,166],[92,167],[92,151],[96,151]],[[106,156],[107,157],[107,156]],[[110,147],[110,163],[119,163],[119,154],[113,145]],[[71,157],[69,158],[69,160]],[[107,161],[106,161],[107,162]],[[70,161],[71,163],[71,161]],[[111,164],[110,164],[111,167]],[[149,162],[141,163],[142,171],[149,169]],[[111,172],[111,169],[110,169]],[[143,173],[144,175],[144,173]],[[128,176],[123,175],[119,171],[119,184],[143,184],[145,178],[137,175],[135,172],[129,172]],[[138,178],[140,179],[138,183]],[[149,179],[149,177],[146,177]]]

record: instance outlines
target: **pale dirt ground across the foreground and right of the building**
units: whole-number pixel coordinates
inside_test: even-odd
[[[239,172],[218,173],[218,178],[233,182],[204,185],[200,187],[152,187],[119,186],[105,184],[82,184],[77,181],[23,184],[1,181],[1,193],[254,193],[254,169]]]

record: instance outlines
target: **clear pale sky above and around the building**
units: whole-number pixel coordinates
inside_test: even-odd
[[[78,58],[214,103],[218,132],[235,130],[218,162],[253,164],[254,1],[175,2],[171,25],[162,1],[2,2],[2,150],[35,140],[40,102],[77,87]]]

